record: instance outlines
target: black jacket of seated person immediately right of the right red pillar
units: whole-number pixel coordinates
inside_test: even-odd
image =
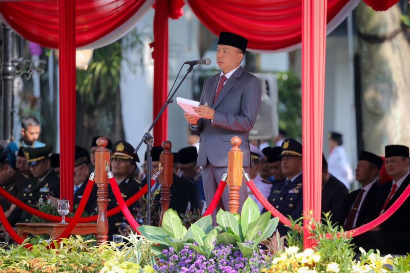
[[[322,188],[322,213],[330,212],[332,223],[343,224],[343,204],[348,193],[346,186],[330,175]]]

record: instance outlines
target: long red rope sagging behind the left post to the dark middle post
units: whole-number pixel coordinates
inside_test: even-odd
[[[155,183],[155,180],[151,180],[151,186]],[[131,204],[133,204],[134,202],[136,202],[137,200],[139,200],[142,196],[144,196],[147,193],[147,185],[145,185],[144,187],[141,188],[141,190],[139,190],[139,192],[137,192],[135,195],[133,195],[132,197],[130,197],[127,201],[126,204],[127,206],[130,206]],[[12,196],[11,194],[9,194],[8,192],[6,192],[2,187],[0,187],[0,195],[3,196],[6,200],[10,201],[11,203],[17,205],[19,208],[24,209],[24,211],[35,215],[39,218],[45,219],[47,221],[51,221],[51,222],[59,222],[61,221],[61,218],[59,216],[55,216],[55,215],[50,215],[47,213],[43,213],[38,211],[37,209],[26,205],[25,203],[23,203],[22,201],[18,200],[17,198],[15,198],[14,196]],[[121,211],[119,206],[116,206],[112,209],[110,209],[109,211],[107,211],[107,216],[113,216],[117,213],[119,213]],[[89,216],[89,217],[83,217],[80,218],[78,220],[78,223],[90,223],[90,222],[95,222],[97,221],[98,215],[93,215],[93,216]],[[67,222],[71,222],[72,218],[71,217],[66,217],[66,221]]]

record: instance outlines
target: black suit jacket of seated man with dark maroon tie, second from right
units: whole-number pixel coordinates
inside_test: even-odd
[[[356,198],[360,193],[360,190],[361,189],[359,188],[358,190],[353,191],[347,195],[344,201],[344,215],[343,221],[341,223],[342,225],[346,221],[347,215],[350,212],[350,209],[352,208],[353,204],[355,203]],[[379,184],[376,181],[375,183],[373,183],[373,185],[368,190],[368,193],[364,197],[363,203],[359,210],[359,215],[357,216],[356,226],[354,226],[354,228],[367,224],[368,222],[377,218],[377,214],[380,212],[376,212],[375,210],[378,190]]]

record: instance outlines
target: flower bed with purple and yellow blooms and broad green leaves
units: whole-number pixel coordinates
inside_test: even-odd
[[[301,219],[293,222],[300,224]],[[410,272],[410,256],[380,256],[378,251],[360,249],[354,261],[351,239],[338,236],[339,227],[327,217],[313,222],[311,234],[317,244],[303,249],[303,233],[290,232],[283,238],[272,236],[277,218],[260,215],[248,199],[242,214],[219,211],[218,225],[210,216],[182,225],[170,209],[162,227],[141,226],[145,237],[130,234],[125,243],[97,246],[95,240],[76,236],[63,239],[48,249],[46,241],[26,249],[23,246],[0,248],[2,272]],[[327,236],[326,236],[327,234]],[[389,266],[389,267],[386,267]]]

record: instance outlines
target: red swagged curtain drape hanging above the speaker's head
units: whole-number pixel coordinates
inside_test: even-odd
[[[330,22],[348,0],[327,0]],[[188,0],[189,5],[215,35],[231,31],[249,40],[256,50],[278,50],[299,44],[302,39],[300,0]]]

